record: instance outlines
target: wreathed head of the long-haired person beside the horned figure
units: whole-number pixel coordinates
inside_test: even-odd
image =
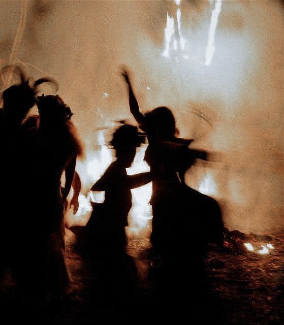
[[[37,106],[41,124],[47,123],[49,126],[62,124],[70,120],[73,115],[70,107],[58,95],[38,96]]]

